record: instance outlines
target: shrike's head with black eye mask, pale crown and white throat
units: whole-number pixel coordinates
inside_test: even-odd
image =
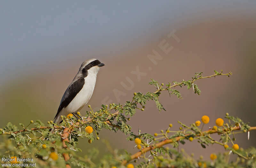
[[[101,63],[99,60],[92,58],[85,60],[81,67],[80,70],[82,73],[88,73],[88,74],[96,74],[99,72],[100,67],[103,67],[105,64]]]

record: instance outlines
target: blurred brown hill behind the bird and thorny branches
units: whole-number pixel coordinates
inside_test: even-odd
[[[193,90],[177,88],[181,91],[183,99],[174,96],[169,97],[167,92],[163,93],[160,100],[166,108],[166,112],[158,113],[154,103],[148,103],[145,111],[138,111],[132,117],[129,124],[132,130],[137,132],[155,133],[173,124],[173,129],[178,129],[177,120],[185,124],[200,120],[202,115],[210,117],[208,126],[215,124],[215,119],[224,117],[228,112],[230,115],[240,116],[251,125],[256,125],[255,120],[255,54],[256,54],[256,19],[255,18],[232,18],[232,19],[212,19],[198,20],[197,23],[167,27],[162,32],[157,32],[152,41],[145,41],[138,47],[115,49],[113,53],[106,53],[102,56],[101,62],[104,66],[98,75],[94,94],[89,101],[92,107],[98,107],[104,99],[117,102],[113,93],[114,89],[122,91],[125,96],[120,96],[120,103],[131,99],[133,92],[154,91],[148,85],[150,78],[154,78],[160,83],[181,81],[190,79],[195,72],[202,71],[203,75],[212,75],[213,70],[223,69],[223,72],[233,72],[233,76],[216,77],[203,79],[196,82],[199,85],[202,95],[195,95]],[[176,30],[176,35],[180,39],[177,43],[174,39],[168,39],[167,34]],[[153,36],[153,35],[152,35]],[[170,54],[166,55],[159,47],[158,43],[166,39],[173,46]],[[161,53],[162,60],[157,60],[154,65],[147,58],[155,49]],[[107,51],[107,50],[106,50]],[[118,51],[118,52],[117,52]],[[84,53],[86,55],[86,53]],[[80,56],[81,57],[81,56]],[[16,125],[19,122],[28,123],[30,120],[40,119],[44,122],[53,120],[58,109],[63,92],[75,76],[80,64],[90,56],[81,59],[72,59],[68,62],[56,63],[51,67],[51,73],[28,74],[17,80],[8,81],[1,87],[2,117],[0,127],[4,127],[7,121],[12,121]],[[147,73],[138,81],[136,75],[131,74],[139,66],[141,72]],[[149,70],[152,68],[152,70]],[[126,90],[120,82],[129,86],[126,77],[129,77],[134,87]],[[108,102],[108,103],[110,103]],[[81,113],[84,113],[84,108]],[[134,146],[133,142],[127,142],[125,135],[121,133],[111,133],[103,131],[100,137],[110,141],[114,148],[128,149],[129,152]],[[114,138],[113,138],[114,137]],[[251,139],[246,140],[247,135],[237,137],[237,143],[244,148],[255,146],[255,134],[251,133]],[[188,143],[184,146],[188,153],[196,155],[205,152],[224,151],[220,146],[207,147],[208,150],[201,149],[196,142],[194,146]],[[95,142],[97,147],[102,147],[101,142]],[[91,144],[91,146],[94,144]],[[81,141],[81,148],[90,148],[86,140]],[[105,151],[105,149],[102,149]]]

